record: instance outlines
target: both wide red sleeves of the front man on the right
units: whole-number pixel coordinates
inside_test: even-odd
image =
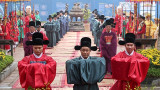
[[[149,60],[142,55],[123,57],[119,53],[111,59],[112,77],[117,80],[132,80],[142,82],[149,68]]]

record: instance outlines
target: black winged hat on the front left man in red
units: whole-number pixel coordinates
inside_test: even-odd
[[[26,45],[47,45],[49,44],[48,40],[43,40],[43,34],[40,32],[35,32],[32,35],[32,41],[27,41]]]

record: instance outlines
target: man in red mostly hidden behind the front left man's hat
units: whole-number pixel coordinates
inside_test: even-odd
[[[41,22],[40,21],[36,21],[36,28],[37,28],[37,32],[40,32],[43,34],[43,40],[48,40],[48,37],[46,36],[46,34],[41,31]],[[43,54],[45,54],[45,49],[47,48],[47,45],[43,45]]]

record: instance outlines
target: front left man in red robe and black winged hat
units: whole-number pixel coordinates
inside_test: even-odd
[[[43,54],[43,45],[48,43],[39,32],[33,34],[32,41],[26,42],[27,45],[33,45],[33,54],[18,62],[20,84],[25,90],[51,90],[50,84],[56,75],[56,61]]]

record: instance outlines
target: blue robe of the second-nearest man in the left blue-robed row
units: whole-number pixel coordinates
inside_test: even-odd
[[[60,21],[59,20],[53,20],[52,21],[55,25],[55,31],[56,31],[56,43],[60,41]]]

